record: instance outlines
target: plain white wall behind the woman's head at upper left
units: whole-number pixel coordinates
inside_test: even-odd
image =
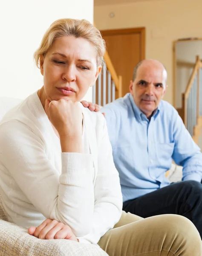
[[[93,0],[0,1],[0,96],[24,99],[43,85],[33,53],[60,18],[93,22]],[[92,101],[92,88],[85,99]]]

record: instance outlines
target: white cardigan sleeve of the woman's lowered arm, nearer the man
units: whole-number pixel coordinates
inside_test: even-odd
[[[112,147],[104,116],[100,114],[102,136],[98,140],[98,174],[95,181],[95,207],[92,230],[80,241],[98,243],[101,236],[114,227],[122,213],[122,194],[118,171],[115,168]]]

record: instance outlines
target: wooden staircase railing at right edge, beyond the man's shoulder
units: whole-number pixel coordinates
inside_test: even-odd
[[[182,109],[179,114],[193,140],[198,144],[202,129],[202,61],[199,56],[196,57],[187,88],[182,94]]]

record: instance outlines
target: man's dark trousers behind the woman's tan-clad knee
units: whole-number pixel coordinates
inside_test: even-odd
[[[202,184],[194,180],[172,183],[123,204],[123,210],[143,218],[178,214],[196,226],[202,238]]]

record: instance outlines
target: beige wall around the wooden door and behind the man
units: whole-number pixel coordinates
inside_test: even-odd
[[[110,12],[115,17],[110,18]],[[146,58],[162,61],[168,71],[164,99],[173,104],[173,41],[202,38],[202,0],[156,0],[132,4],[96,6],[98,29],[146,27]]]

